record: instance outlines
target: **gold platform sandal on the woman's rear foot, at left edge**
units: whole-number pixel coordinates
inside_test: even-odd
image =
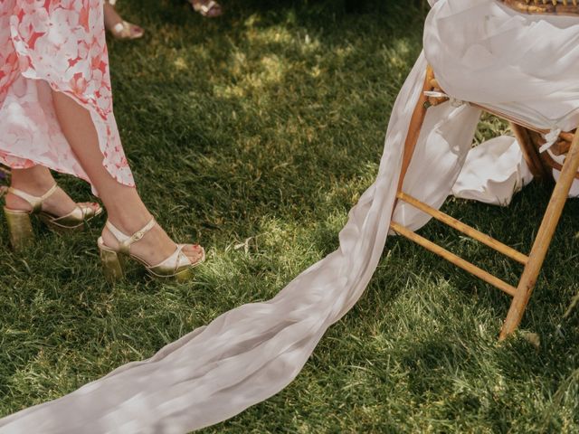
[[[10,243],[14,250],[23,250],[30,246],[34,240],[33,226],[30,219],[31,215],[37,215],[38,218],[46,223],[46,225],[53,231],[75,231],[84,228],[85,222],[100,215],[102,208],[100,205],[95,209],[90,205],[78,203],[68,214],[56,216],[50,212],[43,211],[43,203],[58,190],[58,184],[37,197],[32,194],[25,193],[22,190],[17,190],[13,187],[6,188],[4,193],[12,193],[30,204],[32,210],[13,210],[4,207],[4,215],[6,224],[8,226],[8,233],[10,235]],[[95,203],[93,203],[95,204]]]

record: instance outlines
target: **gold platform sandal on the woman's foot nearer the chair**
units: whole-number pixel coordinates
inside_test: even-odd
[[[128,258],[140,262],[151,275],[157,278],[176,278],[177,280],[184,281],[193,277],[191,271],[205,260],[205,250],[203,248],[201,248],[201,259],[196,262],[191,262],[183,252],[186,244],[177,244],[175,252],[157,265],[150,265],[146,260],[130,252],[131,244],[142,239],[148,231],[153,229],[155,224],[157,224],[155,219],[151,219],[145,227],[128,236],[119,231],[111,222],[107,222],[107,229],[112,236],[117,239],[117,242],[119,242],[119,247],[112,249],[105,245],[102,237],[100,237],[98,241],[100,260],[105,278],[107,278],[109,282],[114,282],[124,276],[125,261]]]

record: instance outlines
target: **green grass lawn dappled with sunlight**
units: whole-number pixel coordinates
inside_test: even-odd
[[[0,415],[100,378],[243,303],[274,296],[337,248],[370,185],[423,14],[403,2],[223,0],[207,20],[178,0],[123,0],[138,42],[111,42],[119,129],[140,192],[178,240],[208,248],[187,284],[138,269],[103,281],[90,230],[38,229],[26,255],[0,225]],[[479,138],[502,126],[484,121]],[[60,182],[77,199],[88,185]],[[528,251],[549,197],[444,210]],[[521,332],[497,336],[508,297],[409,241],[295,382],[204,432],[579,432],[579,201],[571,201]],[[514,282],[520,267],[435,222],[421,233]],[[565,316],[565,312],[567,315]],[[539,337],[538,344],[529,339]]]

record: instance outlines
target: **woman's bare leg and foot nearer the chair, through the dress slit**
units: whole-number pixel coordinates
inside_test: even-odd
[[[52,91],[52,99],[62,132],[82,168],[89,175],[90,182],[99,192],[109,214],[109,221],[126,234],[141,229],[152,216],[141,201],[137,189],[119,184],[102,165],[103,156],[90,113],[60,92]],[[103,230],[102,236],[105,244],[111,248],[116,247],[116,240],[107,229]],[[175,243],[158,225],[131,247],[131,251],[150,264],[166,259],[175,249]],[[192,261],[201,257],[201,251],[194,246],[187,246],[184,253]]]

